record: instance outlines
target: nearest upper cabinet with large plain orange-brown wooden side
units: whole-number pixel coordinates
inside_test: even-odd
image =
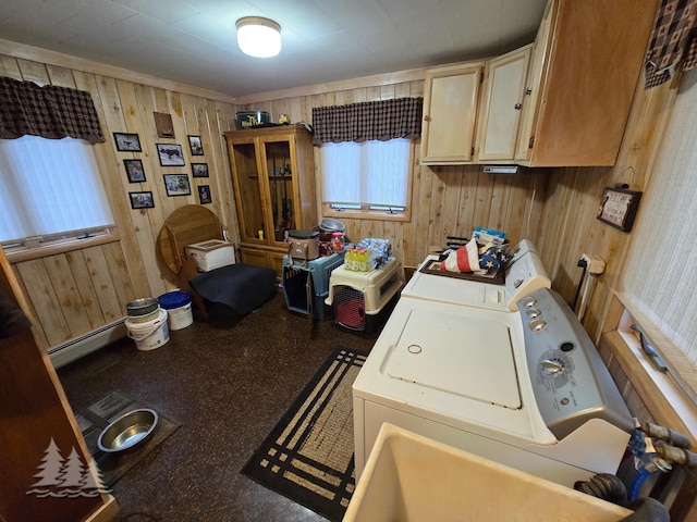
[[[641,73],[656,1],[552,0],[535,44],[531,113],[516,161],[615,163]]]

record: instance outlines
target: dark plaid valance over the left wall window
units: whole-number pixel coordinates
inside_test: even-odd
[[[105,140],[89,92],[0,77],[0,138]]]

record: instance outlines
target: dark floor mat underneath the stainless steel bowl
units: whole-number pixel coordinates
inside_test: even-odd
[[[101,431],[124,413],[140,408],[149,408],[158,414],[157,426],[147,440],[123,453],[106,453],[101,451],[97,446]],[[102,481],[107,488],[115,484],[130,469],[182,425],[155,408],[130,399],[118,390],[107,394],[87,408],[75,412],[75,418],[87,443],[87,449],[97,461],[97,467],[101,472]]]

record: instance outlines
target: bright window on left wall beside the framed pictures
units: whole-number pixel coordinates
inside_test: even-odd
[[[113,226],[87,141],[0,140],[0,243],[20,244]]]

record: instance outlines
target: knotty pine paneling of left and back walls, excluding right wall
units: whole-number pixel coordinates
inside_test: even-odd
[[[13,54],[13,53],[11,53]],[[139,83],[139,76],[124,71],[119,78],[96,74],[98,67],[57,65],[49,54],[28,60],[0,54],[0,74],[39,85],[52,84],[87,90],[91,94],[107,141],[97,145],[100,175],[120,233],[113,244],[91,247],[14,264],[14,271],[39,320],[39,338],[51,347],[83,335],[90,330],[123,316],[125,304],[135,297],[158,296],[172,288],[173,279],[156,253],[157,235],[164,219],[178,207],[197,203],[198,185],[210,185],[212,204],[233,240],[239,238],[230,166],[222,133],[234,128],[239,110],[268,111],[277,119],[289,114],[291,122],[311,122],[314,107],[417,97],[424,94],[423,75],[409,72],[370,80],[353,82],[337,90],[319,86],[322,94],[279,94],[278,99],[232,103],[224,95],[219,100],[196,88],[185,86],[159,88]],[[108,73],[112,70],[109,69]],[[404,79],[404,77],[408,79]],[[417,79],[414,79],[416,76]],[[166,85],[168,83],[164,83]],[[186,92],[186,94],[185,94]],[[194,92],[194,94],[191,94]],[[311,90],[310,90],[311,92]],[[220,101],[225,100],[225,101]],[[158,138],[154,112],[172,115],[175,139]],[[112,133],[136,133],[143,152],[119,152]],[[187,135],[200,135],[204,157],[189,156]],[[182,145],[184,167],[161,167],[156,144]],[[439,166],[419,163],[417,142],[414,159],[413,216],[411,222],[346,220],[346,232],[353,240],[384,237],[392,241],[394,253],[406,266],[417,265],[431,248],[441,248],[447,235],[468,236],[475,226],[508,231],[513,241],[522,237],[537,240],[546,197],[548,173],[530,171],[513,176],[482,174],[478,166]],[[316,164],[319,164],[315,149]],[[146,182],[129,183],[124,159],[143,161]],[[191,162],[208,163],[209,178],[193,178]],[[188,197],[168,197],[162,174],[186,173],[192,184]],[[316,175],[318,199],[321,176]],[[129,191],[151,190],[154,209],[132,210]]]

